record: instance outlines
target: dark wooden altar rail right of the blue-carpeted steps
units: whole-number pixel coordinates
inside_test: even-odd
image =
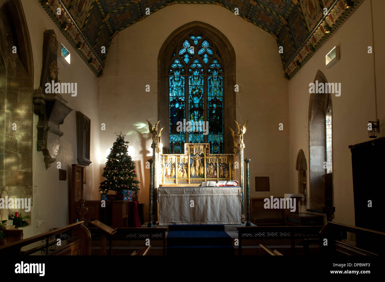
[[[237,226],[238,255],[242,255],[242,240],[290,239],[291,254],[295,255],[296,239],[319,239],[323,226]]]

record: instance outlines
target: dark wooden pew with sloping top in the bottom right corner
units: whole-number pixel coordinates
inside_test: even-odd
[[[346,240],[347,232],[355,234],[355,241]],[[384,241],[383,232],[328,222],[320,232],[320,251],[323,255],[384,255]]]

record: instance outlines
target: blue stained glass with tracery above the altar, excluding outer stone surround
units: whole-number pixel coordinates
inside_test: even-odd
[[[223,153],[223,63],[209,38],[190,34],[169,64],[169,148],[182,154],[184,143],[211,143]]]

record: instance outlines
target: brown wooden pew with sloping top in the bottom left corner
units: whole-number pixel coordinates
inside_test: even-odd
[[[61,246],[57,245],[61,240]],[[42,245],[41,242],[44,242]],[[37,247],[27,247],[38,244]],[[91,234],[84,221],[76,222],[40,235],[0,247],[0,255],[91,255]]]

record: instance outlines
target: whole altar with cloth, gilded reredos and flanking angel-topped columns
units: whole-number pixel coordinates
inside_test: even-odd
[[[152,134],[147,227],[153,227],[156,222],[159,225],[239,225],[245,221],[246,226],[250,226],[250,160],[243,159],[247,122],[243,126],[236,122],[236,132],[230,128],[234,154],[215,154],[218,150],[211,149],[211,143],[184,143],[180,154],[163,154],[160,140],[163,128],[159,130],[159,122],[152,125],[147,120]]]

